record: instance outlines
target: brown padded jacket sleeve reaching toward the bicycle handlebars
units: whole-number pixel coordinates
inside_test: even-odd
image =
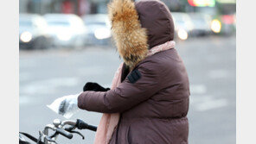
[[[131,84],[128,78],[117,88],[106,91],[85,91],[78,97],[78,107],[82,110],[101,113],[122,113],[142,103],[159,91],[159,75],[153,66],[138,66],[141,78]],[[158,70],[159,71],[159,70]]]

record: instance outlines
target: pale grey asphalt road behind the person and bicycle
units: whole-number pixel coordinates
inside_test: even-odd
[[[190,81],[189,144],[235,143],[235,37],[204,37],[178,41]],[[20,131],[38,135],[55,118],[46,106],[57,97],[82,91],[86,82],[110,86],[121,59],[112,47],[20,51]],[[80,111],[80,118],[97,125],[101,114]],[[93,143],[94,132],[82,131],[61,144]]]

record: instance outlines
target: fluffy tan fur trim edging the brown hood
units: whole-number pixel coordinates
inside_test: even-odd
[[[141,27],[132,0],[112,0],[108,4],[112,35],[125,64],[134,68],[148,53],[146,29]]]

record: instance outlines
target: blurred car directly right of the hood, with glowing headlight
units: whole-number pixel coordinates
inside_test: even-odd
[[[191,18],[188,14],[182,12],[172,12],[171,15],[175,23],[175,37],[180,40],[187,40],[194,28]]]

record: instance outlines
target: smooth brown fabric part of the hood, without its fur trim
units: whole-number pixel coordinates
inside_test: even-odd
[[[169,8],[159,0],[140,0],[135,3],[142,28],[147,29],[149,47],[174,39],[174,22]]]

